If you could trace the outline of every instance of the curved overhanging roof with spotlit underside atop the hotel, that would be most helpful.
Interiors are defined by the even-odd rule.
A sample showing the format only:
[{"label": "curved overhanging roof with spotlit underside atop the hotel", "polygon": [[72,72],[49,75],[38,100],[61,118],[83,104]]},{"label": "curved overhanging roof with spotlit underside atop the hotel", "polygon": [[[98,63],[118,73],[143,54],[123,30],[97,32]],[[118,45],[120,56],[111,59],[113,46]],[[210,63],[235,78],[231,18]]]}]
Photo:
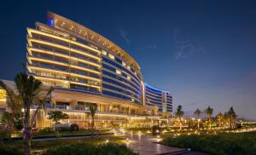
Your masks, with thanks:
[{"label": "curved overhanging roof with spotlit underside atop the hotel", "polygon": [[[90,28],[85,27],[73,20],[69,20],[59,14],[55,14],[55,13],[48,11],[47,15],[48,15],[48,17],[52,18],[53,20],[62,20],[62,21],[65,21],[66,24],[67,23],[71,24],[73,26],[73,29],[71,29],[70,32],[75,32],[77,34],[78,30],[82,31],[82,29],[84,29],[86,34],[88,33],[88,35],[90,34],[91,36],[95,37],[95,39],[91,40],[92,42],[94,42],[93,40],[97,39],[95,42],[102,43],[102,47],[112,50],[114,53],[116,53],[116,55],[125,57],[126,60],[131,61],[131,63],[135,66],[135,68],[137,70],[141,69],[140,66],[137,64],[137,61],[134,60],[131,57],[131,55],[129,55],[124,49],[121,49],[119,47],[119,45],[108,40],[107,37],[103,37],[101,34],[94,32],[93,30],[90,30]],[[73,31],[73,30],[76,30],[76,31]],[[84,36],[85,36],[85,33],[84,33]]]}]

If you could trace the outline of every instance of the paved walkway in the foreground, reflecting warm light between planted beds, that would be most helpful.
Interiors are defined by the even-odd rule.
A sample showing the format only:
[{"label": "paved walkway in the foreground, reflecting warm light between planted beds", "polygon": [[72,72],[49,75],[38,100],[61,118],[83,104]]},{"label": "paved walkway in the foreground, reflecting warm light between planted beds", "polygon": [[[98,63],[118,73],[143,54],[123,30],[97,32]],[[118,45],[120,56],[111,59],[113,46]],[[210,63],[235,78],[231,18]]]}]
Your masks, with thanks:
[{"label": "paved walkway in the foreground, reflecting warm light between planted beds", "polygon": [[149,137],[148,135],[127,133],[125,137],[129,139],[126,145],[140,155],[172,154],[172,152],[174,154],[174,152],[184,151],[182,148],[158,144],[156,142],[160,141],[160,139]]}]

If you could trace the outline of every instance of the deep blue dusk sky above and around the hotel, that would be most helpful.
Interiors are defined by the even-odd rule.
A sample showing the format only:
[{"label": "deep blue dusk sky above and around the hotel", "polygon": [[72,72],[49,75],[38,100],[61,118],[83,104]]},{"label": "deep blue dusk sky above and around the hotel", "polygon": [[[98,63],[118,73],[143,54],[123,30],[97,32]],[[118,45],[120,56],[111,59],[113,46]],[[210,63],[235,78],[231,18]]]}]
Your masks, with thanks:
[{"label": "deep blue dusk sky above and around the hotel", "polygon": [[26,27],[47,11],[79,22],[125,49],[144,81],[171,92],[187,115],[234,106],[256,119],[256,1],[14,1],[1,3],[0,78],[26,62]]}]

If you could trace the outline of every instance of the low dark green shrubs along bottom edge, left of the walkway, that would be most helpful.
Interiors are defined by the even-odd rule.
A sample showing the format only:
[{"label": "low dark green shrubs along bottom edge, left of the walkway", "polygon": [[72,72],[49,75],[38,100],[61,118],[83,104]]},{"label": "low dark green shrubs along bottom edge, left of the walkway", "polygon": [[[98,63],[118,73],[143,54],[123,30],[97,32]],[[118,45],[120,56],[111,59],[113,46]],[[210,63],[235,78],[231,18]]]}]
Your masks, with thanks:
[{"label": "low dark green shrubs along bottom edge, left of the walkway", "polygon": [[90,143],[74,143],[67,146],[60,146],[56,149],[49,149],[44,152],[43,155],[136,155],[126,146],[120,146],[118,144],[103,144],[99,146],[92,145]]}]

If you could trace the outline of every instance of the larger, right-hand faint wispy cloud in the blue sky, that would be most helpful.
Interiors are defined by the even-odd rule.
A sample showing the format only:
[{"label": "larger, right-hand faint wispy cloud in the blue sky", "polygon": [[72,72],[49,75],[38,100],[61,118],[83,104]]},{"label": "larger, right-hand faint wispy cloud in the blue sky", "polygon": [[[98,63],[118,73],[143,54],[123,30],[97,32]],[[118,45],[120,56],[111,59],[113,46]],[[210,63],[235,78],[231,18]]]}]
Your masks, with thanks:
[{"label": "larger, right-hand faint wispy cloud in the blue sky", "polygon": [[180,30],[174,29],[172,38],[174,43],[175,59],[181,60],[188,58],[191,55],[207,53],[207,49],[205,49],[201,43],[194,39],[181,39],[179,37]]}]

